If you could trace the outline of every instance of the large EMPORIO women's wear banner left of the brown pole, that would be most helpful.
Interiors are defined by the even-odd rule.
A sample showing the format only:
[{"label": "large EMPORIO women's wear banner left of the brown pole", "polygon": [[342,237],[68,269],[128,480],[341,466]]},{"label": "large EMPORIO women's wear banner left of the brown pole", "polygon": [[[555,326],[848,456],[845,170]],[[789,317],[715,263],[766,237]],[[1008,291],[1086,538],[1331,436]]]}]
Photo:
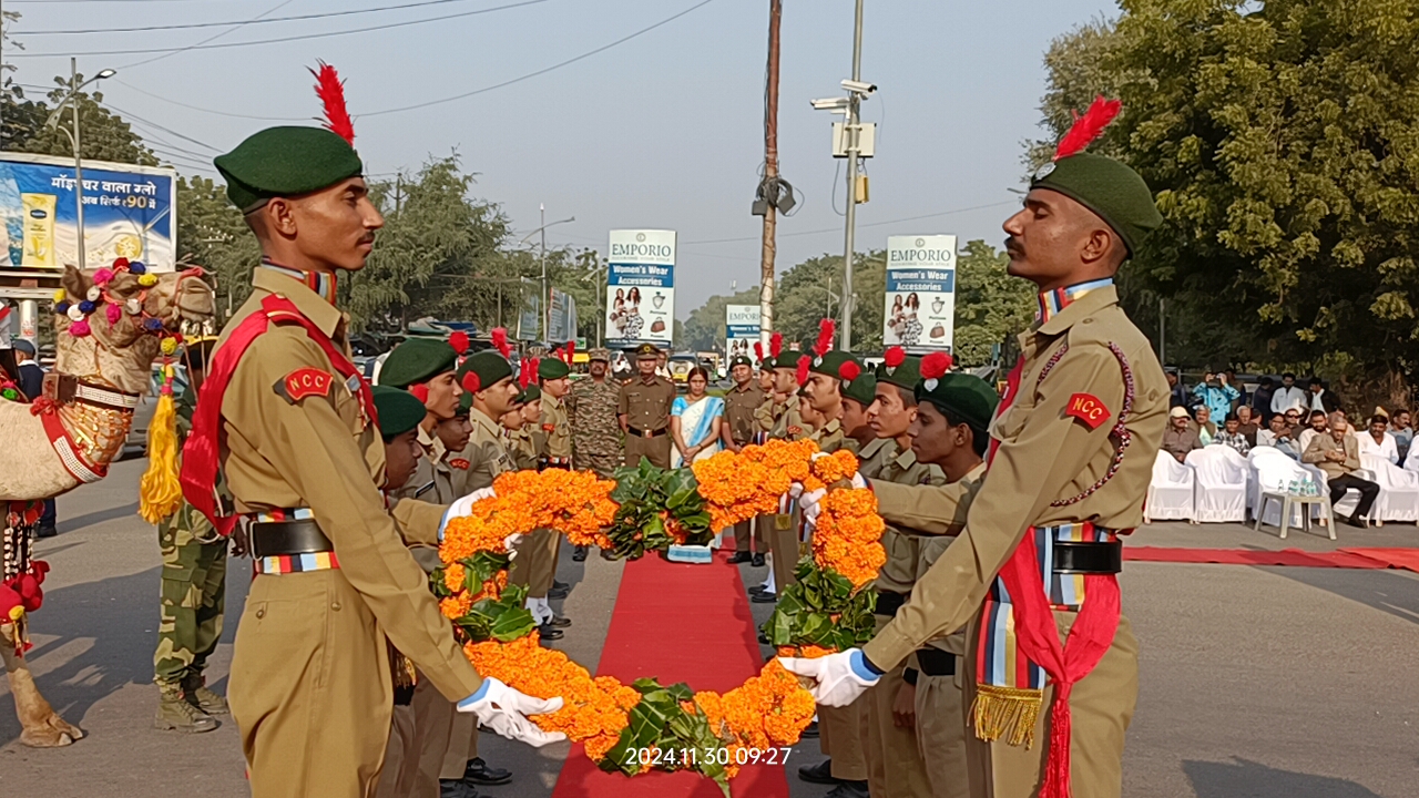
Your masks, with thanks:
[{"label": "large EMPORIO women's wear banner left of the brown pole", "polygon": [[670,346],[675,334],[675,231],[612,230],[606,344]]}]

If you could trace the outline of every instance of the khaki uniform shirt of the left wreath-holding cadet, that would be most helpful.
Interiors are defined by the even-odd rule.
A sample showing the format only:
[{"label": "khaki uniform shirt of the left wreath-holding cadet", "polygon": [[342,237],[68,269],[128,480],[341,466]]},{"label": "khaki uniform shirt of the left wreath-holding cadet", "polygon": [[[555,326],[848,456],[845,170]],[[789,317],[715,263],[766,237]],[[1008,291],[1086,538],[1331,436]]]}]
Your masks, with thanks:
[{"label": "khaki uniform shirt of the left wreath-holding cadet", "polygon": [[[348,319],[301,283],[257,268],[253,291],[219,342],[261,301],[280,294],[349,352]],[[278,388],[297,369],[319,369],[333,378],[325,396],[288,400]],[[339,376],[325,351],[302,327],[271,324],[237,364],[221,406],[221,470],[240,513],[308,507],[335,545],[339,574],[360,594],[379,621],[379,630],[450,700],[461,700],[481,684],[438,612],[429,579],[404,548],[404,540],[437,544],[443,508],[402,501],[385,510],[379,483],[385,443],[365,417],[359,399]],[[298,579],[299,576],[267,576]]]}]

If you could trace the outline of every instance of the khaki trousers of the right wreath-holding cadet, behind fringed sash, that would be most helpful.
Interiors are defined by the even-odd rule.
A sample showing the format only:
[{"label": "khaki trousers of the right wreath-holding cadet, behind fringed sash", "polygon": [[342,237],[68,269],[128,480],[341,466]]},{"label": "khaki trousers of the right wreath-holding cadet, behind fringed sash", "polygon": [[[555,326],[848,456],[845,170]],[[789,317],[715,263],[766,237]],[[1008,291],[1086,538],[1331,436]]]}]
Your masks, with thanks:
[{"label": "khaki trousers of the right wreath-holding cadet, behind fringed sash", "polygon": [[[1069,638],[1077,618],[1073,612],[1056,612],[1060,639]],[[975,657],[971,652],[978,640],[981,616],[971,622],[966,636],[965,706],[975,701]],[[1050,700],[1053,689],[1044,689],[1044,707],[1034,724],[1034,747],[1006,745],[1003,741],[985,743],[975,733],[966,736],[966,757],[971,775],[971,795],[978,798],[1034,798],[1043,782],[1044,760],[1049,754]],[[1128,618],[1118,619],[1114,645],[1104,659],[1083,680],[1074,684],[1070,700],[1070,781],[1080,798],[1120,798],[1124,789],[1124,734],[1138,703],[1138,640]]]}]

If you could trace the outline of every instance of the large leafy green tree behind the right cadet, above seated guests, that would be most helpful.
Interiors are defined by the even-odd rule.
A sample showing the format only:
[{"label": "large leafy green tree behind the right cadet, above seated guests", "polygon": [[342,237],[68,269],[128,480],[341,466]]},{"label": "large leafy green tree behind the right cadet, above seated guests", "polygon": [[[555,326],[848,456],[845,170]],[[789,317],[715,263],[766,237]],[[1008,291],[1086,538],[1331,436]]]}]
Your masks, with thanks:
[{"label": "large leafy green tree behind the right cadet, above seated guests", "polygon": [[1095,149],[1138,169],[1166,220],[1131,267],[1132,301],[1151,291],[1230,327],[1256,362],[1315,362],[1352,405],[1406,405],[1419,362],[1419,7],[1121,10],[1111,30],[1056,43],[1044,111],[1060,133],[1086,95],[1124,101]]}]

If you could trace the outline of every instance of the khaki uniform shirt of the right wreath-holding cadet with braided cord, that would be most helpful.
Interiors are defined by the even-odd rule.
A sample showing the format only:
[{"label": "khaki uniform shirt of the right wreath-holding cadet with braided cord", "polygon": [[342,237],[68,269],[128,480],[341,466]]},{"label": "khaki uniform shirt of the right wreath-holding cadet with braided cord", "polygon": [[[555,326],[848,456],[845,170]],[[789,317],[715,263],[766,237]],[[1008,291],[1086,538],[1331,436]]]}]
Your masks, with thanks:
[{"label": "khaki uniform shirt of the right wreath-holding cadet with braided cord", "polygon": [[[1112,427],[1128,386],[1111,346],[1132,376],[1132,410],[1125,422],[1131,443],[1112,477],[1093,488],[1114,461]],[[1132,530],[1142,523],[1169,390],[1152,345],[1118,307],[1117,290],[1090,291],[1020,335],[1020,352],[1017,396],[990,423],[990,436],[1000,442],[990,479],[968,507],[962,497],[969,490],[961,483],[939,488],[874,484],[881,515],[890,523],[949,534],[965,521],[961,537],[917,582],[911,601],[863,647],[878,667],[891,669],[924,642],[965,626],[1029,527],[1093,521]],[[1053,365],[1040,379],[1047,364]],[[1069,415],[1080,393],[1108,410],[1098,426]]]}]

